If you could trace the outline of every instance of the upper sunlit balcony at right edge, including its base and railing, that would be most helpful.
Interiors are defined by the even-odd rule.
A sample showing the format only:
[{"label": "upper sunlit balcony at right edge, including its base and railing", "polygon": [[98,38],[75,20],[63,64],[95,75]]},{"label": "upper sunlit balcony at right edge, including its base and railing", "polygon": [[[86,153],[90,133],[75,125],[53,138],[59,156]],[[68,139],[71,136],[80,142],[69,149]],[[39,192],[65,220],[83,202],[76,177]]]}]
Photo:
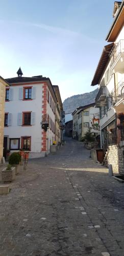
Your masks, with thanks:
[{"label": "upper sunlit balcony at right edge, including its base and railing", "polygon": [[115,44],[109,54],[110,68],[117,71],[122,71],[124,68],[124,40],[119,40]]}]

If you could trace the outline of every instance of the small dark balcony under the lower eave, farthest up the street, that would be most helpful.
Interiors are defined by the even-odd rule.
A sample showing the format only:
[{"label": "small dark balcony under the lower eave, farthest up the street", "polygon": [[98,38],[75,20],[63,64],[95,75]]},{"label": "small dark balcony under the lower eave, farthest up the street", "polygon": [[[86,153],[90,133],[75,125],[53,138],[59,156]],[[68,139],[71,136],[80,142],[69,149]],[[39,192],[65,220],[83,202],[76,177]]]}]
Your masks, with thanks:
[{"label": "small dark balcony under the lower eave, farthest up the street", "polygon": [[106,106],[106,86],[100,87],[95,98],[95,104],[96,106]]}]

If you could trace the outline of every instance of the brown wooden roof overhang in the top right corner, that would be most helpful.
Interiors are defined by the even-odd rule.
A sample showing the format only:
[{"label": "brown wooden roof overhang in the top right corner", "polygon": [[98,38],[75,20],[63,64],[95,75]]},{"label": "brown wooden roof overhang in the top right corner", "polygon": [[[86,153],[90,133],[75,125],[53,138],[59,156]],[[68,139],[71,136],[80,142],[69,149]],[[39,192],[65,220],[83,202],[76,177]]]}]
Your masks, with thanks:
[{"label": "brown wooden roof overhang in the top right corner", "polygon": [[[120,3],[120,2],[118,2]],[[120,29],[122,28],[124,23],[124,1],[119,5],[118,12],[114,18],[112,26],[107,34],[106,40],[108,42],[114,42]]]}]

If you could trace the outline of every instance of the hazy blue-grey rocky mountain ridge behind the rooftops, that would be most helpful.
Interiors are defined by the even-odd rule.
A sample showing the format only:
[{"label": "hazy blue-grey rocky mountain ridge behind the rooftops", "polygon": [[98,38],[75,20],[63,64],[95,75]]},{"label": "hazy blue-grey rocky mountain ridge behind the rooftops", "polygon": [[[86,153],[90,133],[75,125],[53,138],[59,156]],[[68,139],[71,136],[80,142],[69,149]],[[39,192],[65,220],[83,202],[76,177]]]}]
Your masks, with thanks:
[{"label": "hazy blue-grey rocky mountain ridge behind the rooftops", "polygon": [[65,113],[72,113],[78,108],[78,106],[84,106],[95,102],[95,97],[98,93],[98,88],[89,93],[83,93],[78,95],[73,95],[63,102],[63,110]]}]

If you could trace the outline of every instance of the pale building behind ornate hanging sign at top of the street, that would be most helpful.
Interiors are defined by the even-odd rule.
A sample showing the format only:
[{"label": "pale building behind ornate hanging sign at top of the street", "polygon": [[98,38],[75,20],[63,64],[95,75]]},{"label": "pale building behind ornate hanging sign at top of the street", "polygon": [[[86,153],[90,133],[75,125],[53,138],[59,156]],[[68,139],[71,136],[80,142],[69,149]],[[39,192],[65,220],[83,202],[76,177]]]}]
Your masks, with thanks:
[{"label": "pale building behind ornate hanging sign at top of the street", "polygon": [[100,110],[95,108],[95,103],[79,106],[79,108],[72,113],[73,138],[82,140],[89,129],[95,137],[100,134],[98,131],[99,115]]}]

